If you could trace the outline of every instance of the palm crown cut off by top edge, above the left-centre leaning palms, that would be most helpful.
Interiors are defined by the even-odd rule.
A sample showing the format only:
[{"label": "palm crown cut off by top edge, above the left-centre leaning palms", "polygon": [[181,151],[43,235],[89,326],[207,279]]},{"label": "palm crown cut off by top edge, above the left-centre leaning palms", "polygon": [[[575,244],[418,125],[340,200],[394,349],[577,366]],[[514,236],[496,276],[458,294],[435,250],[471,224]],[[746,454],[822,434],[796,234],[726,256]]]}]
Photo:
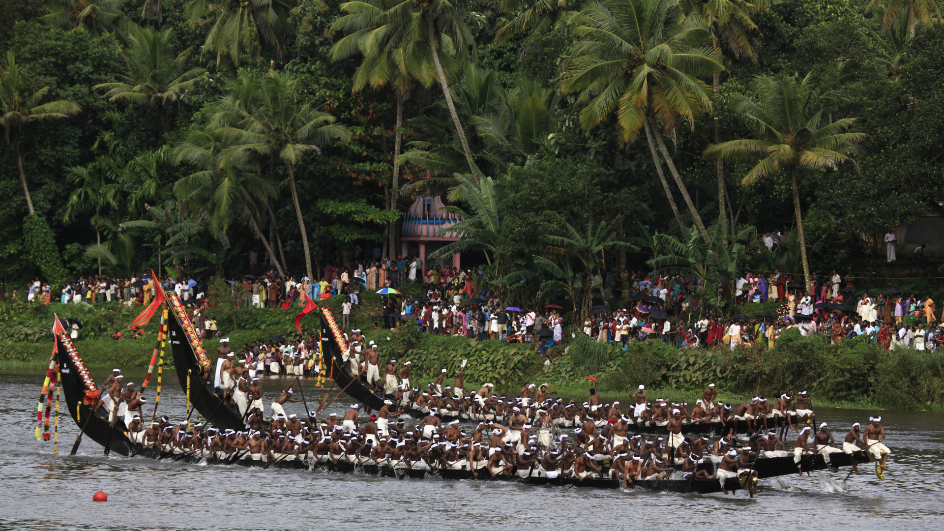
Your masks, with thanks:
[{"label": "palm crown cut off by top edge, above the left-centre leaning palms", "polygon": [[184,15],[190,26],[197,26],[208,11],[215,12],[216,20],[207,33],[201,55],[215,53],[217,65],[228,57],[239,66],[240,54],[258,58],[262,47],[277,54],[282,52],[289,31],[289,9],[279,0],[243,0],[222,5],[211,0],[193,0],[184,9]]}]

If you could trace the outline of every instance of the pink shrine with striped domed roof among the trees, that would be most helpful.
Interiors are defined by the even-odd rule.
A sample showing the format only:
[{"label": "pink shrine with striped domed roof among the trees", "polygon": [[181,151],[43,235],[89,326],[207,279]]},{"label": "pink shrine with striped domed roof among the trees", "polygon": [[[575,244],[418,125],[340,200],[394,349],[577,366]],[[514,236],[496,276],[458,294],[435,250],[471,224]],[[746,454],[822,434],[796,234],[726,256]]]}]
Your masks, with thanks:
[{"label": "pink shrine with striped domed roof among the trees", "polygon": [[[432,252],[437,248],[447,245],[449,242],[459,241],[459,234],[455,232],[443,232],[442,229],[455,225],[464,219],[461,214],[452,214],[441,210],[445,204],[440,196],[434,197],[416,197],[413,204],[403,216],[403,227],[401,229],[400,247],[403,256],[408,254],[418,254],[423,264],[423,272],[428,269],[426,262],[427,252]],[[418,251],[413,251],[410,242],[416,242]],[[430,246],[431,248],[427,248]],[[435,264],[448,267],[460,268],[461,253],[453,253],[452,264],[448,264],[448,259],[439,260]]]}]

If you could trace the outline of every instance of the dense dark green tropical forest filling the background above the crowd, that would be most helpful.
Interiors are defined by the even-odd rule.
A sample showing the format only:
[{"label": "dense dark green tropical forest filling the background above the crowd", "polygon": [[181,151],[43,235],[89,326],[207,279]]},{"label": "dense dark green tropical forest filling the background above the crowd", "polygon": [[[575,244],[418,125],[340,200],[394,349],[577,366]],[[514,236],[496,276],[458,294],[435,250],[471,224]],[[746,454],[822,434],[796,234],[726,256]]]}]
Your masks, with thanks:
[{"label": "dense dark green tropical forest filling the background above the crowd", "polygon": [[[607,218],[614,228],[622,224],[624,239],[636,235],[636,222],[650,235],[675,231],[682,238],[679,222],[695,223],[706,240],[713,239],[708,227],[715,220],[731,225],[731,232],[741,226],[789,228],[797,216],[785,174],[742,184],[759,159],[732,159],[722,166],[719,181],[715,161],[702,157],[717,142],[752,138],[750,117],[739,109],[745,98],[763,95],[753,82],[758,75],[808,76],[818,94],[830,94],[817,104],[819,124],[842,124],[862,141],[856,150],[844,151],[857,164],[821,163],[798,170],[796,196],[806,248],[824,238],[831,243],[810,253],[811,269],[838,266],[841,257],[870,250],[868,238],[934,210],[944,193],[944,162],[937,156],[944,136],[944,27],[936,9],[927,17],[921,11],[912,28],[906,9],[885,12],[865,0],[791,0],[768,7],[732,3],[725,8],[732,11],[714,15],[714,8],[697,2],[551,6],[470,0],[454,10],[430,4],[439,41],[430,47],[427,4],[396,5],[415,9],[418,26],[397,19],[394,11],[380,16],[368,9],[355,16],[336,0],[249,2],[223,9],[182,0],[148,3],[146,9],[121,2],[81,5],[92,10],[76,15],[70,3],[3,4],[8,15],[0,29],[4,51],[13,52],[34,86],[49,87],[42,101],[73,102],[81,109],[14,131],[35,210],[52,231],[43,231],[42,252],[33,246],[30,238],[37,236],[30,235],[25,222],[15,143],[0,143],[0,191],[8,197],[0,208],[0,278],[8,283],[96,272],[97,262],[82,255],[99,236],[106,249],[130,249],[121,259],[125,266],[112,272],[163,263],[196,275],[239,274],[251,248],[272,248],[284,262],[279,266],[299,276],[308,260],[315,269],[356,246],[382,245],[385,255],[396,255],[396,233],[390,232],[396,214],[377,213],[402,211],[413,194],[454,185],[453,172],[468,170],[464,143],[484,175],[510,177],[508,222],[497,234],[503,275],[533,266],[546,236],[561,234],[565,223],[579,227],[591,218]],[[381,10],[394,5],[376,3]],[[619,87],[641,71],[587,70],[595,61],[618,56],[616,41],[601,39],[599,31],[610,27],[606,13],[624,11],[661,25],[660,38],[677,35],[664,49],[643,36],[639,42],[662,49],[658,53],[625,52],[631,63],[638,56],[642,62],[633,64],[651,67],[649,99],[637,98],[634,107],[616,105],[616,93],[603,89],[622,91]],[[345,15],[355,18],[338,24]],[[387,20],[383,16],[400,21],[392,24],[402,23],[403,35],[415,41],[384,34],[373,48],[361,43],[341,55],[332,52],[358,28],[366,31]],[[719,22],[711,22],[711,16]],[[702,24],[699,17],[708,22]],[[237,19],[249,26],[229,24]],[[150,29],[142,33],[139,26]],[[631,33],[614,39],[634,43],[639,36]],[[396,55],[403,43],[413,43],[409,59]],[[674,52],[659,56],[668,49]],[[443,97],[434,50],[451,84],[454,112]],[[400,77],[375,68],[370,82],[357,81],[364,54],[375,59],[388,54],[382,57],[393,58],[389,64],[399,65]],[[715,92],[716,60],[725,70]],[[653,74],[664,68],[674,74]],[[285,158],[274,151],[249,147],[254,155],[244,161],[249,167],[243,171],[259,174],[271,190],[255,206],[236,205],[223,213],[228,222],[220,226],[218,208],[186,208],[194,188],[178,181],[200,168],[171,157],[170,151],[212,122],[218,101],[231,94],[230,81],[259,81],[270,70],[294,77],[298,105],[327,113],[351,136],[325,138],[320,149],[299,150],[291,166],[279,162]],[[404,81],[408,77],[413,81]],[[362,88],[352,94],[356,83]],[[679,86],[687,88],[672,93]],[[404,117],[399,129],[396,94]],[[651,135],[643,131],[641,118],[649,116],[649,105],[655,110]],[[257,133],[264,114],[259,109],[247,109],[243,117],[252,115]],[[456,120],[461,130],[453,126]],[[392,191],[397,132],[403,135],[403,165]],[[258,138],[230,135],[224,147],[258,144]],[[92,171],[96,182],[116,186],[125,200],[67,213],[67,198],[82,185],[69,176],[81,168]],[[435,179],[423,179],[428,171]],[[155,205],[167,213],[161,226],[147,211]],[[191,229],[184,231],[184,225]],[[125,243],[119,241],[122,233]],[[718,234],[728,241],[723,231]],[[169,246],[168,240],[177,245]],[[652,250],[628,249],[627,266],[646,268]],[[56,266],[57,253],[64,270]],[[736,263],[752,264],[751,254],[749,248]],[[467,255],[478,260],[474,252]]]}]

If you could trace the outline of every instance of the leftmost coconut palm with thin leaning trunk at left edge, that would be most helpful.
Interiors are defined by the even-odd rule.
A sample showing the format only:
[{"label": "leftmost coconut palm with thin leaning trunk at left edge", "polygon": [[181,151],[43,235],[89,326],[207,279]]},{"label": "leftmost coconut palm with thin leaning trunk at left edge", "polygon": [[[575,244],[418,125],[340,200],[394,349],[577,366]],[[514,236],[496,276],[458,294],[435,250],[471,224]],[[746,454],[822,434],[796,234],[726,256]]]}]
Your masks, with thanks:
[{"label": "leftmost coconut palm with thin leaning trunk at left edge", "polygon": [[26,175],[23,171],[23,155],[20,152],[20,135],[26,126],[42,121],[65,118],[77,114],[82,108],[74,101],[58,100],[42,103],[50,88],[44,85],[48,79],[36,79],[16,63],[12,51],[7,52],[5,64],[0,65],[0,125],[4,128],[7,144],[13,145],[16,153],[16,169],[26,197],[29,214],[36,214],[33,198],[29,196]]}]

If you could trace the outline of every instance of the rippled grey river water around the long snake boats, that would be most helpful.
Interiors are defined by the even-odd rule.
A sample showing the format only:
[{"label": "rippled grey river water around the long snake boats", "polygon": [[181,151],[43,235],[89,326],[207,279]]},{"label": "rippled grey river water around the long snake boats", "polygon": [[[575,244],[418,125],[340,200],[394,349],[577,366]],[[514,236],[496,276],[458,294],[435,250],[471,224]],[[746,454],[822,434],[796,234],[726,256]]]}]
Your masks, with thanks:
[{"label": "rippled grey river water around the long snake boats", "polygon": [[[126,380],[143,381],[143,373],[127,372]],[[93,369],[98,382],[108,373]],[[284,385],[263,382],[264,403]],[[0,403],[6,449],[0,454],[0,529],[944,529],[941,414],[882,412],[892,452],[885,481],[870,465],[845,483],[848,469],[783,476],[763,480],[750,500],[743,490],[701,496],[182,465],[105,457],[91,439],[70,457],[78,429],[64,405],[59,454],[34,435],[42,374],[0,375],[0,386],[8,396]],[[311,379],[303,388],[309,405],[324,396]],[[153,391],[146,394],[153,401]],[[182,420],[184,402],[176,374],[167,371],[159,415]],[[325,414],[341,416],[349,402],[343,396]],[[304,406],[287,403],[286,410],[302,416]],[[852,422],[865,424],[873,414],[818,409],[817,420],[829,422],[841,440]],[[92,501],[99,488],[109,494],[107,503]]]}]

